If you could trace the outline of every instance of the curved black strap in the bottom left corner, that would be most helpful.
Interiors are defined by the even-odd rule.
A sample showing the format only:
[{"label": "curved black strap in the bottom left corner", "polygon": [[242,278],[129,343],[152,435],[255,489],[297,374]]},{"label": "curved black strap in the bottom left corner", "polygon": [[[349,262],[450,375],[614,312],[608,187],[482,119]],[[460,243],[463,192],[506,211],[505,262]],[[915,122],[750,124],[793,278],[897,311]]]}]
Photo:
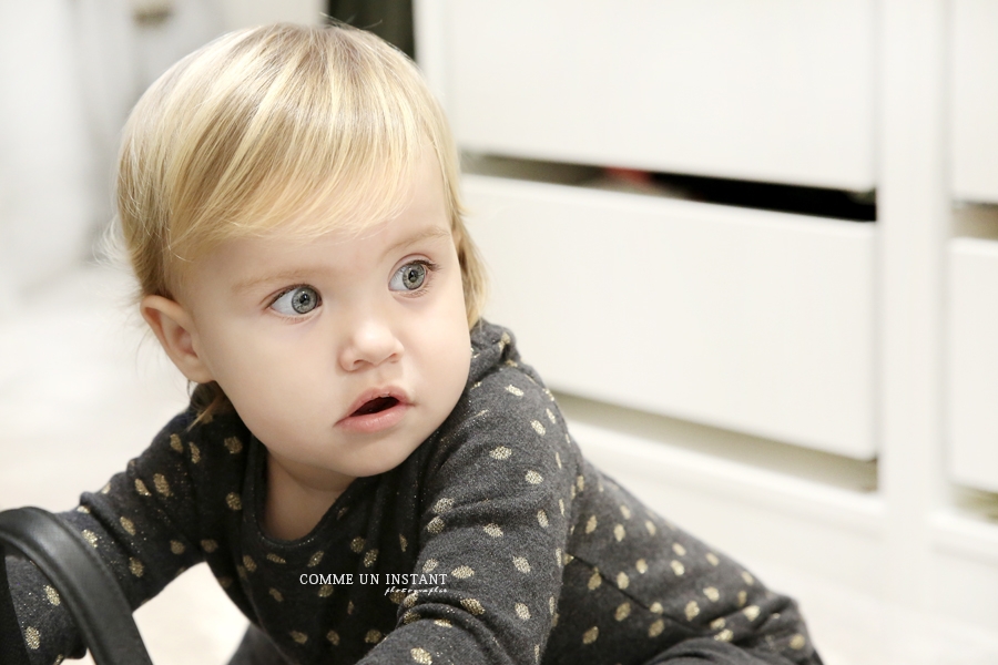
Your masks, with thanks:
[{"label": "curved black strap in the bottom left corner", "polygon": [[0,662],[29,665],[4,549],[21,553],[49,577],[98,665],[152,665],[114,574],[83,536],[40,508],[0,512]]}]

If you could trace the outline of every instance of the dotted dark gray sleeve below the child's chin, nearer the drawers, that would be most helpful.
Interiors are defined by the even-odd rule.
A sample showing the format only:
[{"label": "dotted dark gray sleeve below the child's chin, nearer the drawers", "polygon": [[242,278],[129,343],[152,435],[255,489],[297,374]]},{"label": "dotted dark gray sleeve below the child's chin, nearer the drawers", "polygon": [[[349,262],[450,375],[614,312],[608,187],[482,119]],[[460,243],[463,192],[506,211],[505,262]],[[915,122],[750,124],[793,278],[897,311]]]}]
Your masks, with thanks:
[{"label": "dotted dark gray sleeve below the child's chin, nearer the drawers", "polygon": [[537,663],[560,595],[574,470],[548,393],[503,368],[441,430],[422,493],[416,573],[446,584],[403,602],[361,661]]}]

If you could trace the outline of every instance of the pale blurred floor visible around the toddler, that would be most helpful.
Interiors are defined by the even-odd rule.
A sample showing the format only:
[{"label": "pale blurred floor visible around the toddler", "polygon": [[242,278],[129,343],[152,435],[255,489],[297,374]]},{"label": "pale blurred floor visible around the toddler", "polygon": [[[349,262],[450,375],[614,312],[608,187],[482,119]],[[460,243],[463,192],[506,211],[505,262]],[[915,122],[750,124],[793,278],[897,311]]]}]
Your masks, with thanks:
[{"label": "pale blurred floor visible around the toddler", "polygon": [[[121,273],[88,265],[0,311],[0,509],[74,507],[185,406],[179,372],[125,314],[129,288]],[[752,567],[798,598],[827,665],[998,663],[998,635]],[[246,625],[204,566],[135,616],[157,665],[224,664]]]}]

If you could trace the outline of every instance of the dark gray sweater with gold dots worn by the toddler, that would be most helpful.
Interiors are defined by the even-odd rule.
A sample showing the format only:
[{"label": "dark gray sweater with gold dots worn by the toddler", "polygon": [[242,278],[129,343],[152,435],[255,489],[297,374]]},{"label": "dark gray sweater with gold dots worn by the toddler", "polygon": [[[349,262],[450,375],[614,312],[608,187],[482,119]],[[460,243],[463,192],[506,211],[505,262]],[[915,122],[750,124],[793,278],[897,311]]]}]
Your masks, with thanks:
[{"label": "dark gray sweater with gold dots worn by the toddler", "polygon": [[[582,458],[508,330],[471,339],[444,424],[305,538],[262,532],[266,450],[240,418],[193,409],[62,516],[133,607],[206,561],[293,663],[821,662],[790,598]],[[32,663],[80,657],[55,591],[9,564]]]}]

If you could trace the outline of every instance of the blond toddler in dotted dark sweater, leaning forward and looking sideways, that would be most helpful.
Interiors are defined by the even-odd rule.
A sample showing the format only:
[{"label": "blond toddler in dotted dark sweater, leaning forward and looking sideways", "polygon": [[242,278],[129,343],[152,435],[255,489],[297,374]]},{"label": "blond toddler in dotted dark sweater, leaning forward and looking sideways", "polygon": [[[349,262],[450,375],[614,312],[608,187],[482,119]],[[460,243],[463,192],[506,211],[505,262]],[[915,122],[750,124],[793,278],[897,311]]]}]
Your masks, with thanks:
[{"label": "blond toddler in dotted dark sweater, leaning forward and looking sideways", "polygon": [[[248,663],[821,663],[795,604],[580,454],[480,316],[458,156],[415,65],[347,27],[235,32],[136,105],[140,309],[195,385],[71,523],[133,607],[206,562]],[[84,646],[11,560],[32,663]]]}]

